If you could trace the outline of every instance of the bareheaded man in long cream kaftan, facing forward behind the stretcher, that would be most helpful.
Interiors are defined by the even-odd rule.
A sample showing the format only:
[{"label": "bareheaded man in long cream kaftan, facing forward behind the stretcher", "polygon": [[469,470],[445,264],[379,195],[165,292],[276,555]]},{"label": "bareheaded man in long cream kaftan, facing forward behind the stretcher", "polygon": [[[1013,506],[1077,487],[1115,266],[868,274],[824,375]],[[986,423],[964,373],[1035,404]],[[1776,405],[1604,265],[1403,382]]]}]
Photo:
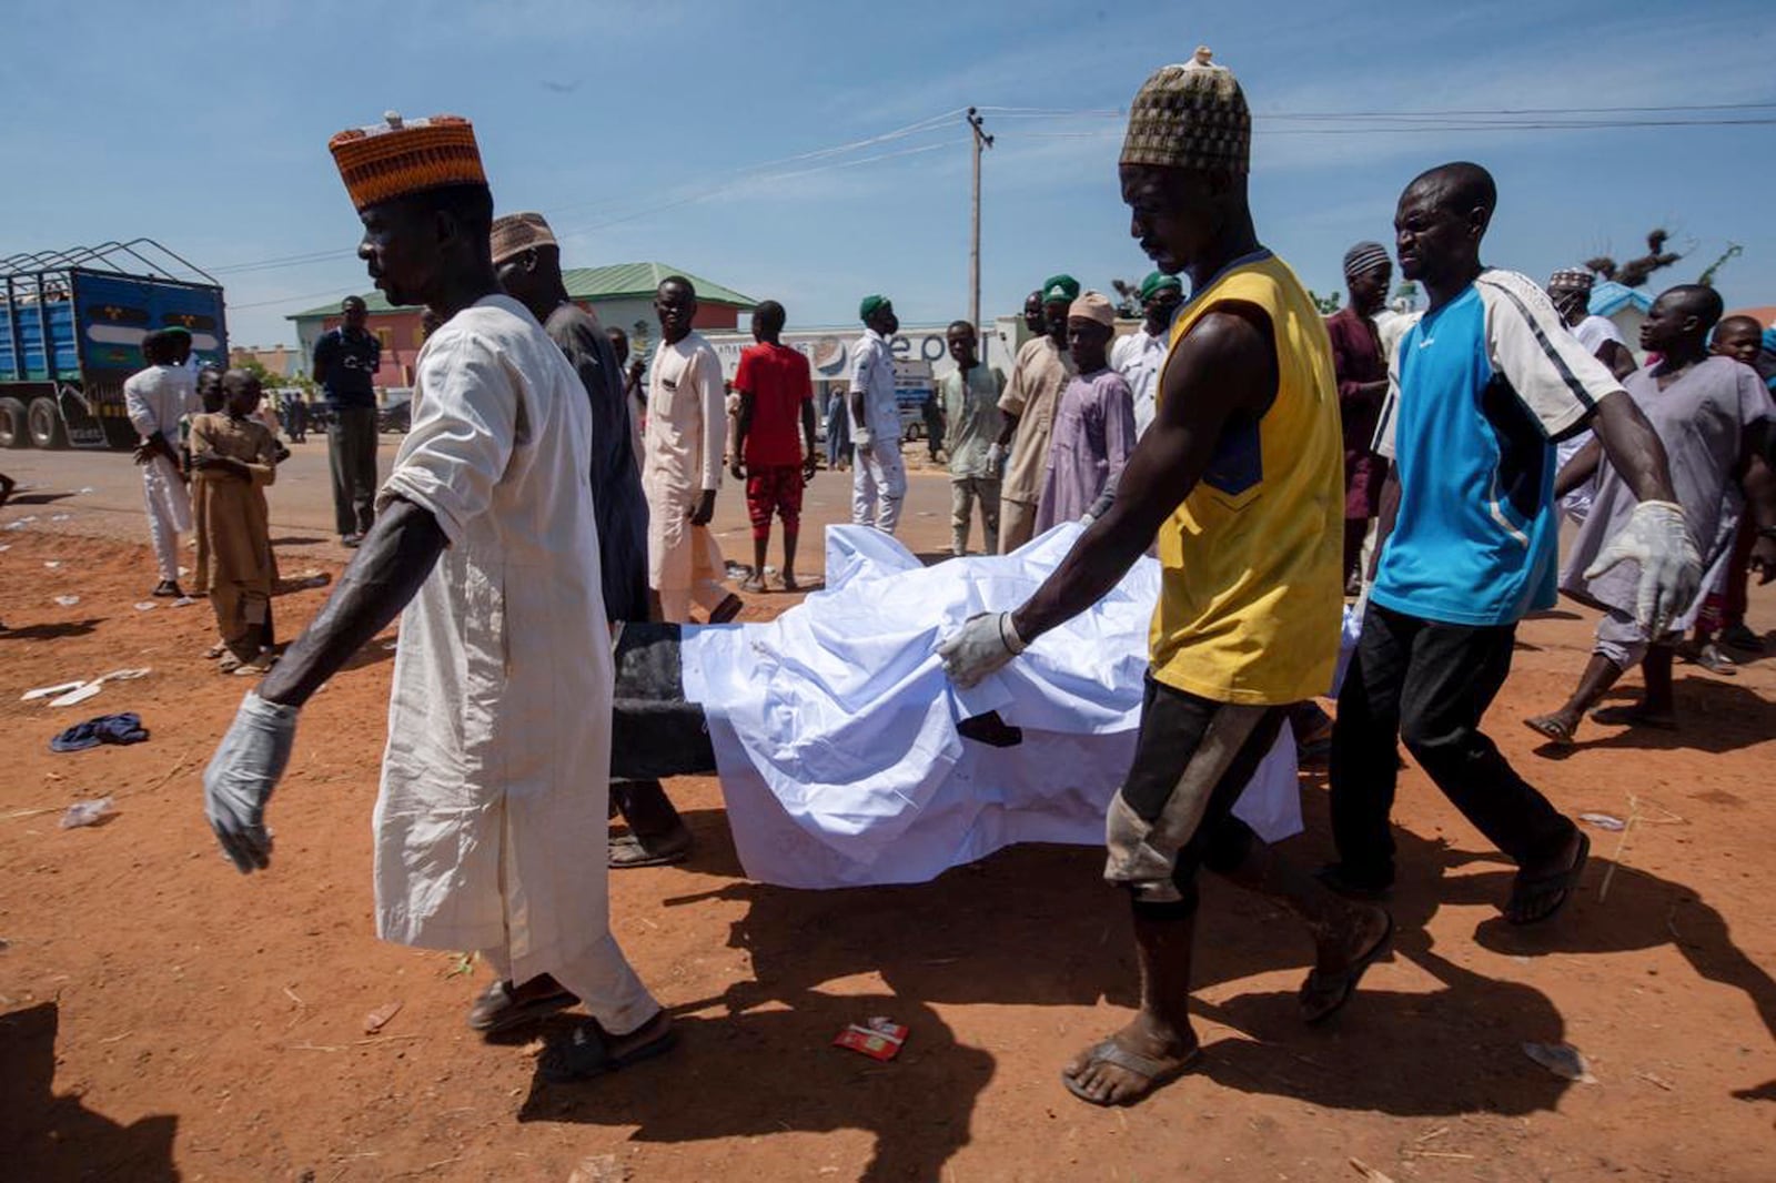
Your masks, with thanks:
[{"label": "bareheaded man in long cream kaftan, facing forward behind the stretcher", "polygon": [[668,275],[654,293],[661,346],[648,371],[648,426],[643,437],[641,488],[648,497],[648,586],[661,597],[671,623],[691,620],[691,604],[709,623],[726,623],[741,599],[721,588],[721,547],[709,533],[721,488],[721,453],[728,419],[723,407],[721,359],[702,334],[696,288]]}]

